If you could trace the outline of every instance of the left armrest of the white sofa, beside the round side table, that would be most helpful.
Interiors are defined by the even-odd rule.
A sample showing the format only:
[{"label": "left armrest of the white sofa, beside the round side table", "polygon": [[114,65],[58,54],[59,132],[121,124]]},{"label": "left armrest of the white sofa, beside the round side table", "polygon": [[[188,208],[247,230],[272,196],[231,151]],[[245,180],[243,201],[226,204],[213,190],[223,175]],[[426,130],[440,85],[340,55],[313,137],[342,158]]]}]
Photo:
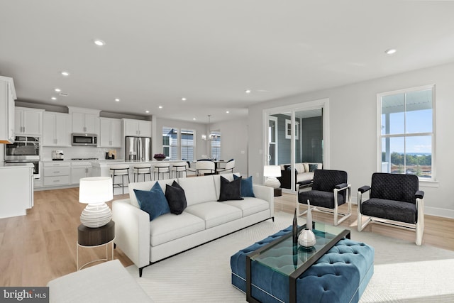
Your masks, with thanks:
[{"label": "left armrest of the white sofa, beside the round side table", "polygon": [[138,268],[150,264],[150,216],[129,204],[129,199],[112,202],[115,244]]}]

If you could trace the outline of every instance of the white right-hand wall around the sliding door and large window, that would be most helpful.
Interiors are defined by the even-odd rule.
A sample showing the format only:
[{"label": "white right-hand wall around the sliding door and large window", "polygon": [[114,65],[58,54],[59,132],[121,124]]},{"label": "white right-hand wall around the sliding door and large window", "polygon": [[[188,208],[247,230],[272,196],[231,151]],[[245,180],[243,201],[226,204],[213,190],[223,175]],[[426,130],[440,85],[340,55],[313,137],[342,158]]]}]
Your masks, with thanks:
[{"label": "white right-hand wall around the sliding door and large window", "polygon": [[[345,87],[325,89],[310,94],[250,106],[248,118],[249,172],[262,177],[262,110],[316,99],[329,99],[330,121],[328,150],[330,166],[348,172],[353,200],[356,190],[370,184],[377,171],[377,94],[397,89],[436,84],[436,182],[421,182],[426,214],[454,218],[454,64],[384,77]],[[262,153],[261,153],[262,152]],[[258,180],[256,178],[255,180]]]}]

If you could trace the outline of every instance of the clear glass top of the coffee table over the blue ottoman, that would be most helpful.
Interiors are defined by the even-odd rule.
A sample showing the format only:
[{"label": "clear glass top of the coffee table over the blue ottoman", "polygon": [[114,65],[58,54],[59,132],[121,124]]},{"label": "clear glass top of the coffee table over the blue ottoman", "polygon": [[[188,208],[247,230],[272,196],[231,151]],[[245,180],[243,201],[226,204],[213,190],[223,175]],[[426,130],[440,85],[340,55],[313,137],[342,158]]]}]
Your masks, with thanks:
[{"label": "clear glass top of the coffee table over the blue ottoman", "polygon": [[[305,263],[314,263],[316,259],[312,259],[317,252],[326,246],[330,246],[330,248],[334,246],[339,241],[339,238],[336,240],[336,237],[346,232],[344,228],[338,228],[321,222],[314,221],[312,226],[312,231],[314,231],[316,236],[316,244],[311,248],[304,248],[299,246],[298,243],[294,245],[292,231],[290,231],[279,238],[278,241],[268,245],[264,250],[251,255],[251,260],[280,272],[283,275],[291,275]],[[304,228],[306,228],[306,225],[299,226],[299,231]]]}]

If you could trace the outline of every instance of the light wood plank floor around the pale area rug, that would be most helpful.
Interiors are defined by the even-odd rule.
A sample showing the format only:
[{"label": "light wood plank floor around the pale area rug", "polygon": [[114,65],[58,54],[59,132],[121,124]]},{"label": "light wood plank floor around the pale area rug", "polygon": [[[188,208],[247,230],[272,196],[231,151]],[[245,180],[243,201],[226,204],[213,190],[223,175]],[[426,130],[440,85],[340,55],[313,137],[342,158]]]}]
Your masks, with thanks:
[{"label": "light wood plank floor around the pale area rug", "polygon": [[[0,286],[45,286],[48,281],[74,272],[79,216],[85,204],[78,202],[79,189],[35,192],[35,206],[27,216],[0,219]],[[128,197],[115,196],[115,199]],[[275,197],[275,211],[294,212],[295,196]],[[111,202],[109,202],[111,206]],[[332,216],[313,212],[314,220],[332,222]],[[342,225],[355,228],[356,208]],[[414,233],[372,224],[367,231],[414,241]],[[454,250],[454,220],[426,216],[423,245]],[[79,264],[103,258],[105,248],[81,248]],[[120,249],[114,258],[124,266],[131,260]],[[96,264],[96,263],[94,263]]]}]

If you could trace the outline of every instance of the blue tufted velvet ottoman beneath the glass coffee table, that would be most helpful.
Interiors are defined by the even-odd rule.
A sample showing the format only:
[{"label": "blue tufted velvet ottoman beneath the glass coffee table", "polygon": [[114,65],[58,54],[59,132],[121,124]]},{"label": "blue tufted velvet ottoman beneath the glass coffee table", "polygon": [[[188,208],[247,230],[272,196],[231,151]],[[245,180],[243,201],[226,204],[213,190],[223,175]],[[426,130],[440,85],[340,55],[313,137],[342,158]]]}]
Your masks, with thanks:
[{"label": "blue tufted velvet ottoman beneath the glass coffee table", "polygon": [[[292,226],[231,256],[232,284],[246,290],[246,255],[292,232]],[[276,255],[276,262],[286,255]],[[374,272],[374,248],[349,239],[338,241],[297,278],[297,302],[358,302]],[[288,302],[289,277],[252,263],[252,296],[260,302]]]}]

